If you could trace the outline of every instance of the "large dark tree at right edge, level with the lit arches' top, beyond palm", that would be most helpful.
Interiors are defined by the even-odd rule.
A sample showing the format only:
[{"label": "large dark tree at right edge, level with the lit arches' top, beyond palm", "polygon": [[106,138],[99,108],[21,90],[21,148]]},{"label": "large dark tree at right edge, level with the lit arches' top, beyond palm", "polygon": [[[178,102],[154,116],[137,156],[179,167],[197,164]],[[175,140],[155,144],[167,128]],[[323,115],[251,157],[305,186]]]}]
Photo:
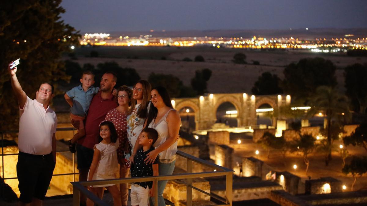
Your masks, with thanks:
[{"label": "large dark tree at right edge, level with the lit arches' top, beyond palm", "polygon": [[354,64],[345,67],[345,88],[346,95],[356,102],[356,111],[366,113],[367,107],[367,63],[364,65]]}]

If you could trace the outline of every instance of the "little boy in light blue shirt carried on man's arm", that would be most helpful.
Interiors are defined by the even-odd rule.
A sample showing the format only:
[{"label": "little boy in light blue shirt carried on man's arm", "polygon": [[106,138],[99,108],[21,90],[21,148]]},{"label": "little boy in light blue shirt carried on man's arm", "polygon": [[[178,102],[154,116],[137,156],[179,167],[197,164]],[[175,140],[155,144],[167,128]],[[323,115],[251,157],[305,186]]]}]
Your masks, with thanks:
[{"label": "little boy in light blue shirt carried on man's arm", "polygon": [[84,119],[87,116],[89,106],[93,96],[98,93],[99,87],[93,87],[94,74],[90,71],[85,71],[80,78],[81,85],[67,91],[64,95],[66,102],[70,104],[70,119],[71,124],[78,132],[69,140],[69,150],[72,153],[76,152],[75,143],[78,139],[86,135],[84,129]]}]

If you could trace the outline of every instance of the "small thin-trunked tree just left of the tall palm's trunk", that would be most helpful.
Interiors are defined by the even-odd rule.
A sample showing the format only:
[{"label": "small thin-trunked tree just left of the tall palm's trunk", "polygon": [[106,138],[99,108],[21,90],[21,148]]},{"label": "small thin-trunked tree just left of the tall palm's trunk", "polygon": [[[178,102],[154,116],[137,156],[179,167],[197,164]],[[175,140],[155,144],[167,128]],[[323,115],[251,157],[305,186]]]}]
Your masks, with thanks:
[{"label": "small thin-trunked tree just left of the tall palm's trunk", "polygon": [[292,151],[301,151],[303,153],[303,162],[306,165],[306,175],[307,175],[308,168],[310,166],[310,161],[307,158],[307,155],[309,155],[315,149],[315,137],[309,134],[299,136],[300,136],[299,140],[295,140],[292,143]]}]

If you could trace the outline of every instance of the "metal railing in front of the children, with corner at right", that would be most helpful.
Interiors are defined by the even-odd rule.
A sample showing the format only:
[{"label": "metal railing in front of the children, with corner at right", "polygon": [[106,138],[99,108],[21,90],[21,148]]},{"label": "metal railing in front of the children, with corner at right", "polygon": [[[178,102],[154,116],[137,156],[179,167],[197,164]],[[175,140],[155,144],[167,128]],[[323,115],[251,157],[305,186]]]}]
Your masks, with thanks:
[{"label": "metal railing in front of the children, with corner at right", "polygon": [[[214,163],[204,161],[203,159],[194,157],[192,155],[186,154],[182,151],[177,151],[177,155],[186,158],[186,173],[183,174],[172,174],[172,175],[164,175],[164,176],[152,176],[152,177],[133,177],[133,178],[124,178],[124,179],[111,179],[111,180],[93,180],[93,181],[80,181],[80,182],[72,182],[73,184],[73,205],[79,206],[79,198],[80,192],[87,196],[91,201],[93,201],[96,205],[99,206],[107,206],[106,202],[103,202],[97,196],[95,196],[91,191],[87,190],[87,186],[92,185],[103,185],[103,184],[120,184],[120,183],[134,183],[134,182],[144,182],[144,181],[153,181],[156,185],[160,180],[181,180],[186,179],[186,205],[192,206],[192,189],[202,192],[206,195],[211,196],[223,204],[221,205],[229,205],[232,206],[232,175],[233,170],[215,165]],[[193,162],[197,162],[201,165],[210,167],[217,171],[214,172],[197,172],[192,173]],[[215,176],[226,176],[226,195],[225,198],[220,198],[218,195],[210,194],[206,191],[200,190],[192,185],[193,178],[199,177],[215,177]],[[154,204],[158,205],[157,196],[158,191],[157,187],[154,188]]]}]

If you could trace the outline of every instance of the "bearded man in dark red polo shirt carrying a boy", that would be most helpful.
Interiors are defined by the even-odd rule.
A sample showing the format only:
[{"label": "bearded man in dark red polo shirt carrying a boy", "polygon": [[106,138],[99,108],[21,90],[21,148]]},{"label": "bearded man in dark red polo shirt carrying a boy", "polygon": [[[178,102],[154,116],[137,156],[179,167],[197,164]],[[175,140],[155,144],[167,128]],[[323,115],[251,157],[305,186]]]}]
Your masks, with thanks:
[{"label": "bearded man in dark red polo shirt carrying a boy", "polygon": [[[101,123],[108,111],[118,106],[116,97],[112,95],[117,77],[113,72],[106,72],[101,79],[101,91],[94,95],[86,118],[86,136],[78,140],[76,151],[79,170],[79,181],[87,181],[88,171],[93,159],[93,147],[97,144],[99,135],[99,123]],[[81,204],[86,199],[80,194]]]}]

